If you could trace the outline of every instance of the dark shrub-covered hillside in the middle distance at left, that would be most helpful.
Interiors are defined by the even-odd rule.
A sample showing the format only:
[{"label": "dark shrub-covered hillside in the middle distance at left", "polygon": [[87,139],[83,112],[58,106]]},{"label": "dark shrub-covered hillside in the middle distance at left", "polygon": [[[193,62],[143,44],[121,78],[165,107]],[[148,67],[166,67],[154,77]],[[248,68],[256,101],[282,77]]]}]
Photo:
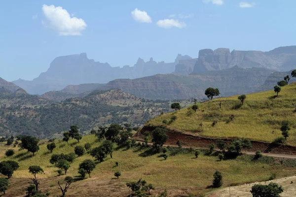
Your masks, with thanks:
[{"label": "dark shrub-covered hillside in the middle distance at left", "polygon": [[23,133],[43,138],[74,124],[81,131],[111,123],[139,126],[171,110],[169,101],[140,99],[121,90],[94,91],[60,102],[16,93],[0,94],[0,135]]}]

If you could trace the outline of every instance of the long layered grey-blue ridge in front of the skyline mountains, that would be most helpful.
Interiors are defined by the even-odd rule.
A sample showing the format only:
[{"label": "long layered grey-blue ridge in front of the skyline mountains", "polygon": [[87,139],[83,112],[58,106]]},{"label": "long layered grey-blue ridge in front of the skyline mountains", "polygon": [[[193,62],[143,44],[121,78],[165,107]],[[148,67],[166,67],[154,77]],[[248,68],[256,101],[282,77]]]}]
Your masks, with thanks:
[{"label": "long layered grey-blue ridge in front of the skyline mountains", "polygon": [[[243,69],[234,66],[225,70],[205,71],[195,75],[158,74],[138,79],[116,79],[105,85],[100,84],[97,90],[121,89],[139,98],[152,100],[205,99],[204,91],[208,87],[219,88],[223,97],[256,92],[273,72],[267,68]],[[84,84],[84,87],[86,86],[88,84]],[[95,86],[91,85],[91,87]],[[74,89],[79,89],[79,86],[75,86]],[[64,89],[49,92],[51,93],[50,97],[49,93],[45,93],[41,97],[59,100],[60,94],[64,95],[63,99],[67,99],[82,97],[87,93],[82,93],[83,89],[79,90],[76,95],[71,95],[69,91]]]}]

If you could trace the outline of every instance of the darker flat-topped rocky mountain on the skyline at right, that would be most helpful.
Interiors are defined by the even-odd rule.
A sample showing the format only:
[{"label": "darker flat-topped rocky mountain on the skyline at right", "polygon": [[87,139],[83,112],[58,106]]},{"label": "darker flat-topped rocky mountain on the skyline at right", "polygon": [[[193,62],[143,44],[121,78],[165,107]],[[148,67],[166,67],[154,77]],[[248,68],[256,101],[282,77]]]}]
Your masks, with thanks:
[{"label": "darker flat-topped rocky mountain on the skyline at right", "polygon": [[[184,61],[190,62],[190,61]],[[206,70],[222,70],[232,66],[242,68],[264,67],[276,71],[287,71],[295,68],[296,46],[278,47],[268,52],[237,51],[227,48],[216,50],[203,49],[199,51],[193,73]],[[176,66],[177,68],[177,66]]]}]

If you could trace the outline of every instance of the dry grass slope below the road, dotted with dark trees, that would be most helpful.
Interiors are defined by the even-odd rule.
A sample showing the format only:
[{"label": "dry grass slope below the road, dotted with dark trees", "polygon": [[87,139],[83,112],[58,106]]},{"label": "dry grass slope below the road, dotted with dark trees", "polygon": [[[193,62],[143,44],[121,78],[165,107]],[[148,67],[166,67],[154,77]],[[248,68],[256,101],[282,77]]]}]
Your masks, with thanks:
[{"label": "dry grass slope below the road, dotted with dark trees", "polygon": [[[79,145],[84,145],[86,142],[92,143],[92,148],[100,144],[100,142],[96,141],[94,135],[83,136]],[[67,145],[66,142],[56,141],[57,148],[52,154],[74,152],[75,140],[70,140],[69,143],[70,145]],[[27,154],[26,150],[22,150],[16,151],[16,154],[9,158],[3,156],[0,158],[1,161],[9,159],[17,161],[20,164],[20,168],[14,172],[10,180],[11,187],[7,194],[13,196],[18,193],[24,193],[23,187],[29,185],[27,184],[28,178],[32,176],[28,173],[28,167],[30,165],[40,165],[44,169],[44,174],[38,175],[39,178],[42,178],[41,189],[43,191],[49,190],[49,192],[54,195],[59,194],[60,191],[57,189],[57,181],[61,180],[65,175],[57,177],[58,168],[49,163],[51,153],[47,151],[46,144],[47,142],[40,146],[40,150],[35,157],[32,157],[31,153]],[[1,152],[11,147],[12,146],[5,146],[4,143],[0,144]],[[105,196],[106,194],[110,195],[118,191],[127,195],[128,189],[125,187],[125,183],[140,178],[142,170],[143,178],[148,183],[152,183],[158,188],[157,193],[163,191],[163,188],[168,188],[169,191],[177,190],[177,180],[178,176],[180,176],[181,188],[189,188],[189,191],[191,190],[193,193],[199,194],[206,192],[206,187],[211,185],[212,174],[216,169],[222,171],[225,185],[227,185],[229,181],[233,184],[239,184],[266,180],[271,172],[276,172],[278,176],[288,176],[296,173],[295,168],[284,168],[282,165],[268,165],[250,161],[246,162],[244,158],[218,162],[217,157],[201,155],[198,159],[194,159],[194,154],[185,154],[169,156],[169,158],[164,161],[162,158],[158,157],[160,154],[140,157],[139,154],[144,151],[145,150],[139,150],[137,148],[115,151],[113,153],[113,159],[108,157],[105,162],[97,164],[95,170],[91,173],[91,179],[87,178],[86,180],[75,182],[74,186],[69,189],[69,195],[98,195],[100,192],[104,192],[100,194],[101,196]],[[76,158],[74,163],[71,164],[67,175],[77,176],[78,165],[84,159],[93,158],[88,154]],[[119,170],[119,167],[114,167],[116,161],[121,163],[122,169],[122,176],[119,180],[112,179],[114,178],[114,172]],[[94,186],[93,184],[95,184],[95,188],[92,188]],[[114,186],[114,184],[117,185]],[[106,185],[106,188],[103,189],[103,185]],[[114,189],[113,187],[118,188]],[[113,188],[114,191],[111,188]],[[154,194],[157,193],[154,192]],[[120,194],[118,196],[120,196]]]}]

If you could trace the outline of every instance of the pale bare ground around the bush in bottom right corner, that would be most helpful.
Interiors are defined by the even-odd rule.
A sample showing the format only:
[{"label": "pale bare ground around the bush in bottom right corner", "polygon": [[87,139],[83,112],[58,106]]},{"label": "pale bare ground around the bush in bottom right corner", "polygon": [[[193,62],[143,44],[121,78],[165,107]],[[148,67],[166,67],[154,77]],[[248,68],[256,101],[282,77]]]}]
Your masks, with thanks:
[{"label": "pale bare ground around the bush in bottom right corner", "polygon": [[[293,181],[293,183],[291,182]],[[278,183],[283,186],[284,192],[281,197],[295,197],[296,196],[296,176],[276,179],[272,181],[260,182],[260,184],[268,184],[270,182]],[[239,186],[230,187],[230,197],[252,197],[251,188],[253,185],[259,184],[258,182],[244,184]],[[229,187],[222,190],[211,192],[206,197],[229,197]]]}]

